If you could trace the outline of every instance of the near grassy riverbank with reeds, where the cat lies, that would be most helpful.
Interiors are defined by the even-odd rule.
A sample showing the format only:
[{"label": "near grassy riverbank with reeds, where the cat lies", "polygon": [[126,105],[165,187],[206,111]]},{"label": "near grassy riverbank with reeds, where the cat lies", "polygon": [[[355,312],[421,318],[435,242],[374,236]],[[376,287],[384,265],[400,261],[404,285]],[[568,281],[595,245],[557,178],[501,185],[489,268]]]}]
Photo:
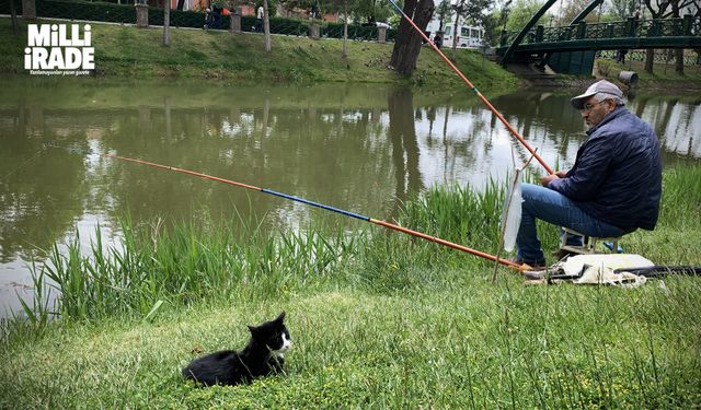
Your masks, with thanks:
[{"label": "near grassy riverbank with reeds, where the cat lies", "polygon": [[[701,167],[667,169],[664,192],[658,227],[623,246],[700,265]],[[502,196],[433,190],[406,204],[402,224],[492,251]],[[535,286],[502,269],[491,284],[492,263],[379,227],[356,226],[372,237],[315,226],[271,238],[250,226],[239,236],[202,221],[127,223],[119,257],[62,259],[51,273],[62,319],[4,329],[0,408],[701,405],[698,278]],[[551,249],[555,236],[543,231]],[[295,342],[285,376],[182,380],[195,351],[241,348],[244,325],[283,309]]]}]

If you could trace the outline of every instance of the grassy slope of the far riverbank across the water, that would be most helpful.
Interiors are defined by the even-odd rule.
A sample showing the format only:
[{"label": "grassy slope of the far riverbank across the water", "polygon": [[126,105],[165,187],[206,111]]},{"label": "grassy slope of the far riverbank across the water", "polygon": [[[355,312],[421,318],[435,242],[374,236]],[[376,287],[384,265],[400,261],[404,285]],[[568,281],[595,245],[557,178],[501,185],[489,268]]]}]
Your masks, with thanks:
[{"label": "grassy slope of the far riverbank across the water", "polygon": [[[10,19],[0,19],[0,73],[24,72],[26,22],[12,35]],[[435,87],[461,84],[458,77],[428,48],[406,80],[388,69],[391,44],[349,40],[348,57],[342,42],[308,37],[273,36],[273,51],[265,52],[263,35],[222,31],[172,30],[172,44],[162,46],[162,28],[92,24],[99,77],[195,78],[225,81],[323,81],[413,83]],[[479,87],[508,90],[520,81],[475,51],[459,50],[456,65]],[[462,87],[464,85],[461,85]]]}]

